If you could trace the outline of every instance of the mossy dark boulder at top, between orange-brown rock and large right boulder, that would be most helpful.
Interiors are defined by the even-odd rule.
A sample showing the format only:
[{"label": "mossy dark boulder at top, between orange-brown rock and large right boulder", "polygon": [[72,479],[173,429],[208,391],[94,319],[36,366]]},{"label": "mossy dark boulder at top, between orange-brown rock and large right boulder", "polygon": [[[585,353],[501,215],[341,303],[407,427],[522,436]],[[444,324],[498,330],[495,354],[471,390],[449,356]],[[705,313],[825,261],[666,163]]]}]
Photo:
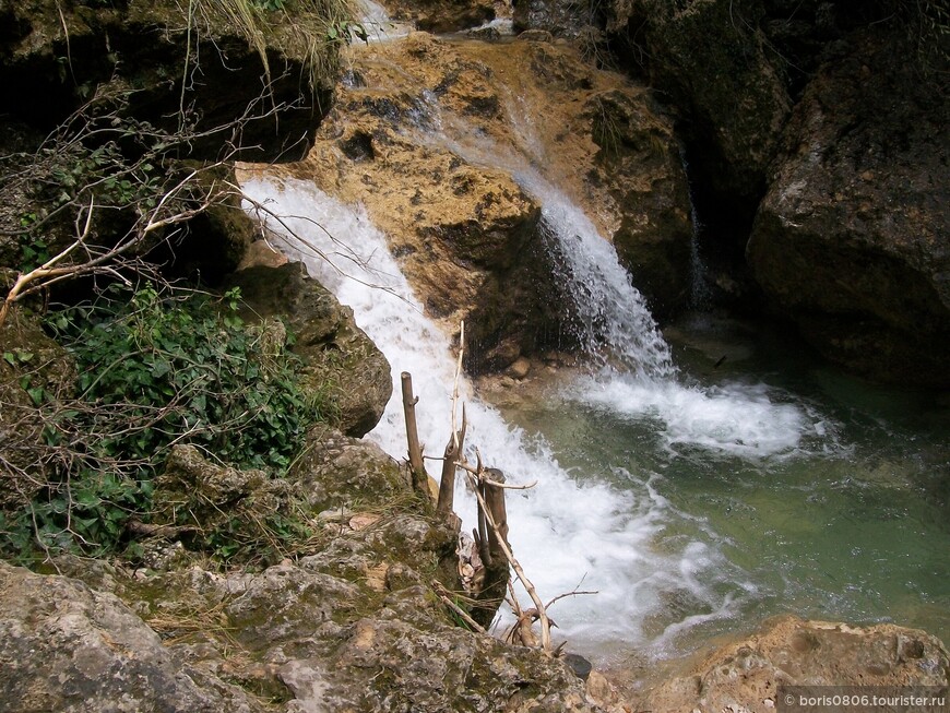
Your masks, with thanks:
[{"label": "mossy dark boulder at top, between orange-brown rock and large right boulder", "polygon": [[618,0],[608,31],[625,64],[675,108],[701,217],[716,249],[748,235],[765,171],[792,110],[785,58],[763,31],[760,0]]}]

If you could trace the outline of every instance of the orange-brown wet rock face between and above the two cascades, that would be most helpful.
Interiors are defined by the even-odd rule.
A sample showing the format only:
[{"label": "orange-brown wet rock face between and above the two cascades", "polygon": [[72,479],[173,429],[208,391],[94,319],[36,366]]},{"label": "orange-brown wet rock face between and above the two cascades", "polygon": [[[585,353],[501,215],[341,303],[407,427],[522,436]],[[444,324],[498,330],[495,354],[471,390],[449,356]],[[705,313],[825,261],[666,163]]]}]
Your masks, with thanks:
[{"label": "orange-brown wet rock face between and above the two cascades", "polygon": [[687,183],[669,122],[642,88],[543,41],[417,33],[351,61],[307,162],[290,170],[366,205],[430,313],[450,331],[466,320],[472,366],[503,368],[570,338],[539,205],[519,173],[584,205],[656,309],[684,304]]}]

